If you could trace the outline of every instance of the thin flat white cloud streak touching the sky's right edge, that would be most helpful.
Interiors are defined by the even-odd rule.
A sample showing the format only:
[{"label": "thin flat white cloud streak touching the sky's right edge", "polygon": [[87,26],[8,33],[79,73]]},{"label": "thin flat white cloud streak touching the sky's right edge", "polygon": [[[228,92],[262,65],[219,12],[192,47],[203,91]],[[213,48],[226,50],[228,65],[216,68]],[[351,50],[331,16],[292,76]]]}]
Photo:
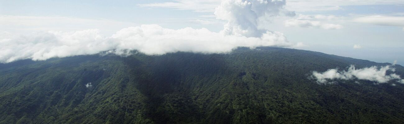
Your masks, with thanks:
[{"label": "thin flat white cloud streak touching the sky's right edge", "polygon": [[387,16],[367,16],[358,17],[353,19],[353,21],[358,23],[368,23],[372,25],[382,25],[382,26],[404,26],[404,17],[387,17]]}]

